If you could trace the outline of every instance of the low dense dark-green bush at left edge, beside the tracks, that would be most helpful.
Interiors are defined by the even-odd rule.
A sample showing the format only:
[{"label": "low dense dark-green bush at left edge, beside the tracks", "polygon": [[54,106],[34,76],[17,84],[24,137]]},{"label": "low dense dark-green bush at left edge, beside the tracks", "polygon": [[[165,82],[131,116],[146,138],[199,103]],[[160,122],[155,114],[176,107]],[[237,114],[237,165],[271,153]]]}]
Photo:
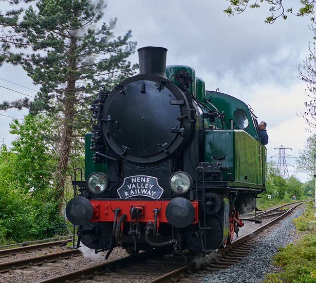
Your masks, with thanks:
[{"label": "low dense dark-green bush at left edge, beside the tracks", "polygon": [[[40,197],[0,188],[0,233],[2,244],[67,234],[64,219],[53,200],[43,203]],[[6,194],[6,195],[4,195]]]}]

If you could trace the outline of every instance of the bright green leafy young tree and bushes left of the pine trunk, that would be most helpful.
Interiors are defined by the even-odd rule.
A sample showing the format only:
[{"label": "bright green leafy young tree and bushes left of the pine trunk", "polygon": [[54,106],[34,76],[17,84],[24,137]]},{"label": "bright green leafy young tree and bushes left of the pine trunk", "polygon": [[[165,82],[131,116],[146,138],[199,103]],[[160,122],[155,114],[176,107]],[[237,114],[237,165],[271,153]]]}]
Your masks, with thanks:
[{"label": "bright green leafy young tree and bushes left of the pine trunk", "polygon": [[0,245],[67,232],[53,190],[53,164],[47,139],[52,122],[39,116],[13,120],[18,135],[8,150],[0,149]]}]

